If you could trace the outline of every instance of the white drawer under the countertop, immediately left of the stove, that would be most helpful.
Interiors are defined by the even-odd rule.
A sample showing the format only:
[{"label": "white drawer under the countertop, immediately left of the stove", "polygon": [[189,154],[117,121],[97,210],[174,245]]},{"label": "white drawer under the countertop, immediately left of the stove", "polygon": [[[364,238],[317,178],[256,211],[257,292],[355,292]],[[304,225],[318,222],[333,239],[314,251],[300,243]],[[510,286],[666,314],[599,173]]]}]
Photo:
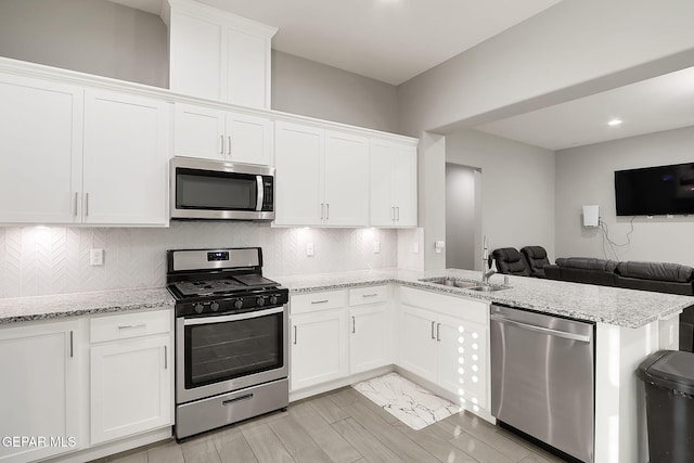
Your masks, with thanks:
[{"label": "white drawer under the countertop, immediately left of the stove", "polygon": [[89,340],[101,343],[168,333],[171,331],[171,317],[172,313],[169,310],[157,310],[91,319]]}]

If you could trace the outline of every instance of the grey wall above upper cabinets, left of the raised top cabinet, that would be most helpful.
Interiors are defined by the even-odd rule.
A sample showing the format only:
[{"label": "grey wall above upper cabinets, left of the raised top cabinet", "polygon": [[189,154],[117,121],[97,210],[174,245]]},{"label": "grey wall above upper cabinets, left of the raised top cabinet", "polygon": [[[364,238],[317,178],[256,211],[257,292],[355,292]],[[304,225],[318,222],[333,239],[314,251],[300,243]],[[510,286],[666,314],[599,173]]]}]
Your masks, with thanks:
[{"label": "grey wall above upper cabinets, left of the raised top cabinet", "polygon": [[0,55],[168,88],[157,15],[105,0],[0,0]]}]

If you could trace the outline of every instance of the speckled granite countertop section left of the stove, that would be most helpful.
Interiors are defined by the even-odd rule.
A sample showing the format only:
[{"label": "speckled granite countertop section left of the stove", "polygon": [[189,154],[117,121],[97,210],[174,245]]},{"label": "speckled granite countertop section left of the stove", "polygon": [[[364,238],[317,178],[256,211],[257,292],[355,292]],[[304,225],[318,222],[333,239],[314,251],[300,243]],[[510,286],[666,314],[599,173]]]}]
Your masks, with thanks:
[{"label": "speckled granite countertop section left of the stove", "polygon": [[174,309],[174,303],[165,287],[0,299],[0,325],[94,313]]}]

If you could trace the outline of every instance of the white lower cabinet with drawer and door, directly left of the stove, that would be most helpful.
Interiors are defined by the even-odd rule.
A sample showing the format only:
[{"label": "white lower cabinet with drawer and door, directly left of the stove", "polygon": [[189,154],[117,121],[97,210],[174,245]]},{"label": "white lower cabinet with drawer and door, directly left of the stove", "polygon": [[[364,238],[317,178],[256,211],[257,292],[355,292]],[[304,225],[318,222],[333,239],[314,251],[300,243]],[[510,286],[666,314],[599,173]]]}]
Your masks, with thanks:
[{"label": "white lower cabinet with drawer and door, directly left of the stove", "polygon": [[172,424],[170,312],[91,320],[91,443]]}]

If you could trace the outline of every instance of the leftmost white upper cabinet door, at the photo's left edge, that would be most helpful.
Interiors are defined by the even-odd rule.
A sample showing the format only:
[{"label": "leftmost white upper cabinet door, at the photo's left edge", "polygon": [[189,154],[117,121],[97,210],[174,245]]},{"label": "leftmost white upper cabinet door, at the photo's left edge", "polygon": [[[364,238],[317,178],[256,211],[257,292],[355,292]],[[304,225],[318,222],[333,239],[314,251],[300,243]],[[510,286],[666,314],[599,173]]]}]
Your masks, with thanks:
[{"label": "leftmost white upper cabinet door, at the photo's left edge", "polygon": [[83,90],[0,75],[0,223],[79,221]]}]

